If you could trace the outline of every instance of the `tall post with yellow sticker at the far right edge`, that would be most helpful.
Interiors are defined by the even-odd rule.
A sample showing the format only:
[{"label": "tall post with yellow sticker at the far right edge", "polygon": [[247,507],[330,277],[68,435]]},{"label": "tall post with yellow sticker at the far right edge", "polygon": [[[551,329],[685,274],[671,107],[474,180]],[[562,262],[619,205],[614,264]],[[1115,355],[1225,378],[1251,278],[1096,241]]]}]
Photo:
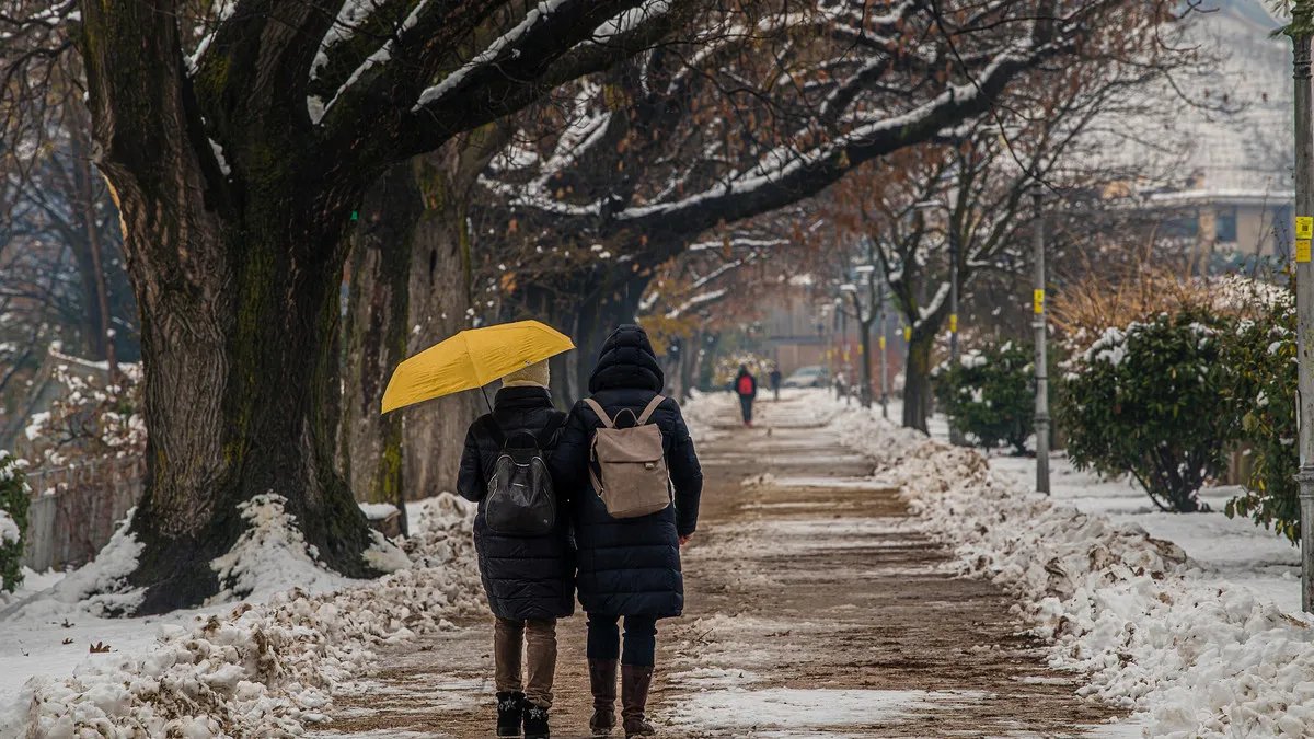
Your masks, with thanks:
[{"label": "tall post with yellow sticker at the far right edge", "polygon": [[1311,130],[1310,32],[1314,1],[1297,0],[1292,9],[1293,64],[1296,80],[1296,316],[1301,468],[1296,475],[1301,501],[1301,609],[1314,611],[1314,130]]}]

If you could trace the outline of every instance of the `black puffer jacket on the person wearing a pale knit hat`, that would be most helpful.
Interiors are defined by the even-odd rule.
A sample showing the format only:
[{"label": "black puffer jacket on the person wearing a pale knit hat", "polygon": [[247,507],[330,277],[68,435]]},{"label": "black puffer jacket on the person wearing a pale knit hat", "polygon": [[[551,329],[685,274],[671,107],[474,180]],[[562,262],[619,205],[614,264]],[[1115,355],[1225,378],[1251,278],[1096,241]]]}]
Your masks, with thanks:
[{"label": "black puffer jacket on the person wearing a pale knit hat", "polygon": [[[574,613],[574,555],[570,546],[569,489],[557,492],[557,529],[545,536],[503,536],[489,530],[484,496],[502,447],[485,427],[486,416],[465,434],[465,452],[456,490],[480,504],[474,518],[474,548],[480,576],[493,615],[514,621],[547,619]],[[560,429],[565,414],[552,406],[543,388],[502,388],[493,419],[505,435]],[[544,450],[551,452],[551,447]],[[551,454],[549,454],[551,456]]]}]

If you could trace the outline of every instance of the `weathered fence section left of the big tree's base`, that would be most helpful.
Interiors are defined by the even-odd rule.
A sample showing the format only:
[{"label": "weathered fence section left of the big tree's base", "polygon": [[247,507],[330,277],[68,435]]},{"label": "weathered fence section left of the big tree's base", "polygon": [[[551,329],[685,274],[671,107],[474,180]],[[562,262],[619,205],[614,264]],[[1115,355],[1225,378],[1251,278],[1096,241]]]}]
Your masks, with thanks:
[{"label": "weathered fence section left of the big tree's base", "polygon": [[141,459],[29,472],[34,497],[28,508],[22,563],[42,572],[91,561],[141,500],[143,476]]}]

